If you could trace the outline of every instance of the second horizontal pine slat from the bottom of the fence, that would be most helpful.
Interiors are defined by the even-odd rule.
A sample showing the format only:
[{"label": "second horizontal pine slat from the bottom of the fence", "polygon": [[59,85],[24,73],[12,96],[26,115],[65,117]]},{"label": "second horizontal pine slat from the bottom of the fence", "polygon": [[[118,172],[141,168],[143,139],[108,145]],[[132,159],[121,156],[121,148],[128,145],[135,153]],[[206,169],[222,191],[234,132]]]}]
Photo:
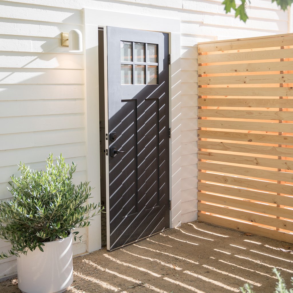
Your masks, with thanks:
[{"label": "second horizontal pine slat from the bottom of the fence", "polygon": [[199,202],[198,210],[221,216],[232,217],[235,219],[241,219],[248,222],[259,223],[266,226],[277,227],[279,229],[293,230],[293,222],[277,219],[276,217],[268,217],[260,214],[253,214],[247,211],[240,211],[239,209],[236,210],[226,207],[218,207]]}]

